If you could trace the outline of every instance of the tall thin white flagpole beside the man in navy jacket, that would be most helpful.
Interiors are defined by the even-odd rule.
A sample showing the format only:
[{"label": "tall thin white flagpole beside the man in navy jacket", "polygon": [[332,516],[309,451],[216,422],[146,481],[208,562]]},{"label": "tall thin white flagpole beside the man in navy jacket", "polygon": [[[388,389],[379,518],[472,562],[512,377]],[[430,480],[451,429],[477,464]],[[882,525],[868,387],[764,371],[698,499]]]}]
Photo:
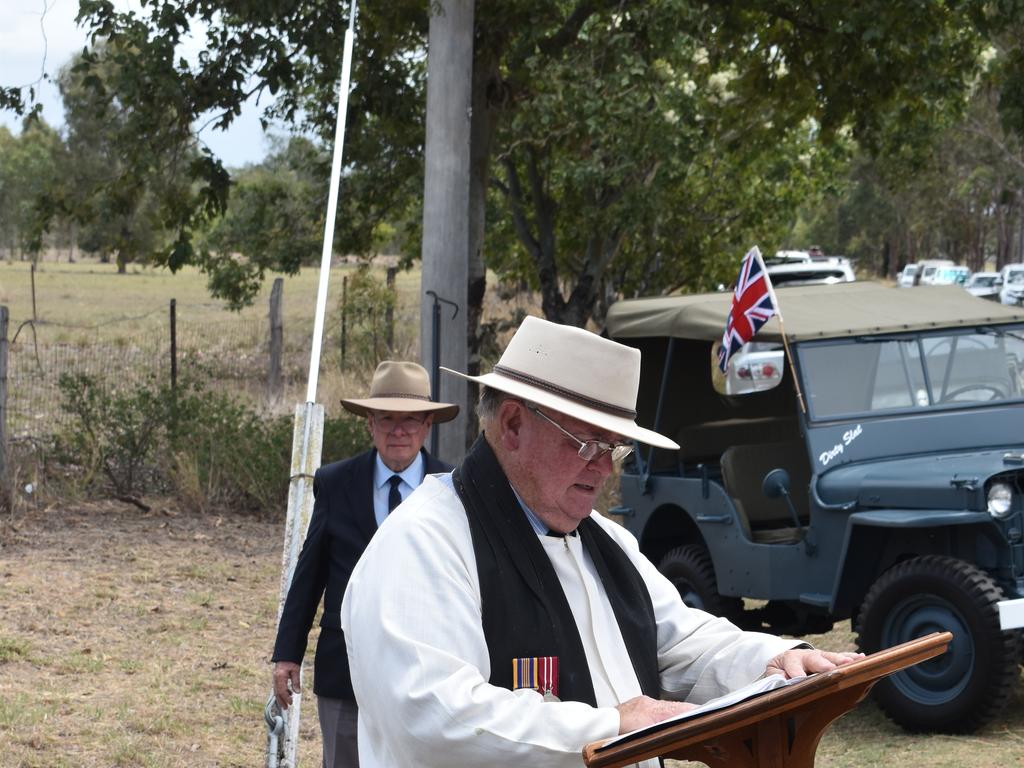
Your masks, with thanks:
[{"label": "tall thin white flagpole beside the man in navy jacket", "polygon": [[[288,493],[288,519],[282,557],[281,595],[278,602],[278,623],[285,599],[292,586],[292,575],[298,560],[299,546],[305,538],[312,513],[312,478],[321,463],[324,435],[324,407],[316,403],[316,383],[319,377],[321,346],[324,339],[324,317],[327,313],[327,289],[331,279],[334,253],[334,228],[338,209],[338,187],[341,183],[341,160],[345,146],[345,118],[348,113],[348,91],[351,85],[352,48],[355,40],[355,0],[348,6],[348,29],[342,53],[341,83],[338,86],[338,117],[334,132],[334,157],[331,163],[331,186],[328,195],[327,219],[324,223],[324,248],[321,252],[319,285],[313,338],[309,351],[309,378],[305,407],[297,406],[292,436],[292,470]],[[302,671],[299,671],[302,679]],[[273,691],[267,700],[264,719],[267,725],[266,768],[296,768],[299,737],[299,716],[302,696],[293,693],[292,705],[282,711]]]}]

